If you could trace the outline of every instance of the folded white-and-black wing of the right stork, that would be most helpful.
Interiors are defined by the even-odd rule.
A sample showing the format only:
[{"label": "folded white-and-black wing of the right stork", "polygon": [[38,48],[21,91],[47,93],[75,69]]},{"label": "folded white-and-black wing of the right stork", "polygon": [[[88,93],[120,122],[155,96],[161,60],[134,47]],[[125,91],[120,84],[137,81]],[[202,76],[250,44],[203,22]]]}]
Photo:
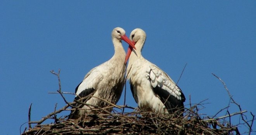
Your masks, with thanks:
[{"label": "folded white-and-black wing of the right stork", "polygon": [[179,108],[184,108],[185,96],[182,90],[164,71],[151,64],[147,70],[147,78],[150,80],[154,93],[165,103],[164,105],[169,113],[173,113]]}]

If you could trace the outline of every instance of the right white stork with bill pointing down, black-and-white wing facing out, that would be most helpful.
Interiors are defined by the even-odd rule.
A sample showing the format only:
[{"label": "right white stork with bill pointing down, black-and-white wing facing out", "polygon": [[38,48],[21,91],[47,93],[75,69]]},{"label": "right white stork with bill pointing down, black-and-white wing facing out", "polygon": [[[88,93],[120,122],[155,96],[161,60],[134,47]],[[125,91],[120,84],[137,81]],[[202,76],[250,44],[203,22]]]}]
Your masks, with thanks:
[{"label": "right white stork with bill pointing down, black-and-white wing facing out", "polygon": [[[130,40],[136,50],[129,46],[126,54],[126,76],[130,79],[133,98],[138,107],[146,111],[170,114],[184,111],[185,96],[175,82],[155,64],[142,57],[141,51],[146,40],[146,33],[142,29],[134,29]],[[183,113],[181,115],[183,115]]]}]

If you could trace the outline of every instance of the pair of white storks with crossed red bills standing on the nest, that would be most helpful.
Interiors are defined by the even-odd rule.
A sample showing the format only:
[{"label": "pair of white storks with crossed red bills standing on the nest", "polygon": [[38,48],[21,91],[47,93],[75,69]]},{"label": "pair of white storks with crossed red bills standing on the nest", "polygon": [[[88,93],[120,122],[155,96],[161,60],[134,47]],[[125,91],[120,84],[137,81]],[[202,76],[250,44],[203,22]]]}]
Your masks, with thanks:
[{"label": "pair of white storks with crossed red bills standing on the nest", "polygon": [[[121,40],[129,44],[127,55]],[[145,40],[146,34],[142,29],[133,30],[130,39],[125,35],[124,29],[120,27],[113,29],[114,56],[85,75],[83,81],[76,87],[75,100],[94,93],[93,97],[85,101],[86,104],[102,108],[109,105],[107,102],[116,104],[123,91],[126,62],[130,57],[126,76],[130,79],[131,92],[138,107],[164,114],[175,111],[182,114],[185,96],[164,71],[142,57],[141,51]],[[75,106],[78,105],[77,103]],[[83,105],[81,108],[81,110],[71,111],[69,118],[77,119],[92,107]],[[108,111],[112,111],[112,108]]]}]

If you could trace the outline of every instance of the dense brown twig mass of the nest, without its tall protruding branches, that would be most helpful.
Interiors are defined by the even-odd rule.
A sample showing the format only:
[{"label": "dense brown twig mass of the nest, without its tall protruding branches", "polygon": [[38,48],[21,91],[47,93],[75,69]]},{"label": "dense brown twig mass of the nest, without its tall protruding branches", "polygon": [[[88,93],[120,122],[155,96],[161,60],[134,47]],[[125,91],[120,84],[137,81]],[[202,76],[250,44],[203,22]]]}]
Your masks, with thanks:
[{"label": "dense brown twig mass of the nest, without its tall protruding branches", "polygon": [[[104,108],[102,108],[104,109]],[[90,134],[166,134],[166,135],[230,135],[240,134],[236,126],[221,119],[203,120],[197,107],[187,110],[183,117],[176,114],[161,115],[143,110],[130,113],[88,113],[78,120],[53,119],[51,124],[40,124],[22,135],[90,135]],[[239,113],[237,113],[239,114]],[[31,122],[35,123],[35,122]]]}]

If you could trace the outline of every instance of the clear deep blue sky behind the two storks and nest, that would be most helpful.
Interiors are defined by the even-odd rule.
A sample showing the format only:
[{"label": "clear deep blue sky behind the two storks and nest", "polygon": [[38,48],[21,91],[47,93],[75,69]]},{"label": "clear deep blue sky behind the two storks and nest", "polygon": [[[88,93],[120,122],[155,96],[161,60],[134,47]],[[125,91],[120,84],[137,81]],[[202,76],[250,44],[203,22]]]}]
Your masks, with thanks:
[{"label": "clear deep blue sky behind the two storks and nest", "polygon": [[[0,131],[19,134],[19,127],[64,106],[62,91],[74,92],[85,74],[114,53],[111,31],[122,27],[147,33],[143,56],[178,85],[189,104],[204,103],[199,113],[212,116],[228,106],[221,82],[242,110],[256,115],[256,1],[9,1],[0,2]],[[125,50],[128,45],[123,43]],[[66,95],[73,101],[73,95]],[[127,87],[127,101],[136,107]],[[118,105],[123,104],[123,96]],[[189,106],[187,106],[189,107]],[[238,110],[232,105],[230,113]],[[69,112],[62,113],[67,115]],[[225,115],[225,112],[218,116]],[[249,113],[245,115],[251,118]],[[232,123],[237,123],[234,117]],[[254,130],[255,130],[254,122]],[[21,128],[28,127],[26,124]],[[239,128],[246,131],[245,127]]]}]

